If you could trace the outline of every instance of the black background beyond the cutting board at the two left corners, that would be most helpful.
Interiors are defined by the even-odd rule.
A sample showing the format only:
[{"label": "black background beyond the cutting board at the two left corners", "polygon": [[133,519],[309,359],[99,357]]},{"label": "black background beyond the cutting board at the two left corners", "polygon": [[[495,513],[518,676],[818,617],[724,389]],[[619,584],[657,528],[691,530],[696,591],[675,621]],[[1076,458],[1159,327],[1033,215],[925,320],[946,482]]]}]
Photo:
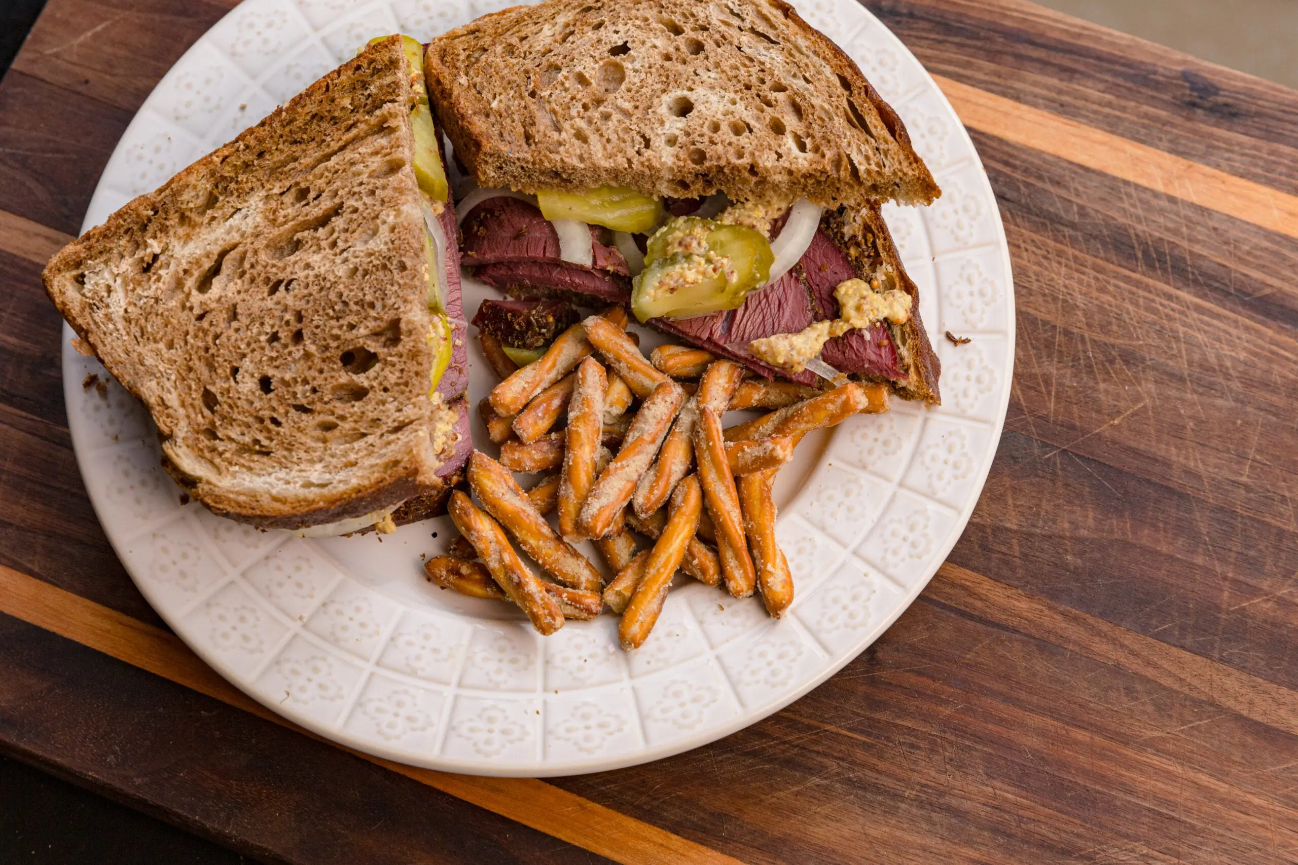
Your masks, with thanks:
[{"label": "black background beyond the cutting board at the two left corners", "polygon": [[[0,0],[4,78],[45,0]],[[236,865],[251,860],[0,756],[0,862]]]}]

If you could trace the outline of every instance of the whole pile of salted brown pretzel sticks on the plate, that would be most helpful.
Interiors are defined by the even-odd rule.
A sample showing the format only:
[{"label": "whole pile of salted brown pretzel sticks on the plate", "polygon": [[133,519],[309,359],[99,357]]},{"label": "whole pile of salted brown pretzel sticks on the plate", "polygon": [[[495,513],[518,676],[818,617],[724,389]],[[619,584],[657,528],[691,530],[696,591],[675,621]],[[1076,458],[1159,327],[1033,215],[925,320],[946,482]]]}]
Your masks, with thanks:
[{"label": "whole pile of salted brown pretzel sticks on the plate", "polygon": [[[649,637],[678,571],[735,598],[755,591],[783,616],[793,578],[775,539],[776,472],[813,429],[888,411],[887,390],[746,377],[737,363],[680,345],[646,358],[626,328],[622,307],[592,315],[523,367],[479,333],[501,377],[479,406],[500,459],[470,458],[472,497],[456,490],[448,506],[459,537],[450,555],[426,562],[428,580],[513,602],[543,634],[607,607],[622,616],[627,650]],[[723,429],[722,415],[739,409],[771,411]],[[514,472],[553,473],[523,490]],[[558,530],[546,521],[556,510]],[[572,546],[584,539],[615,575],[607,582]]]}]

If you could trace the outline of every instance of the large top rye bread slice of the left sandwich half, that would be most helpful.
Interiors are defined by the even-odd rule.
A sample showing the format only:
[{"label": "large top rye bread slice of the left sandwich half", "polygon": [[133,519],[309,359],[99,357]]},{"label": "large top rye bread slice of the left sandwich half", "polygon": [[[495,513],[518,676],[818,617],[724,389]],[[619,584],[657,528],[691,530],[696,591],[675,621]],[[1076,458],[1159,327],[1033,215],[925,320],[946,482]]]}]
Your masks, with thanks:
[{"label": "large top rye bread slice of the left sandwich half", "polygon": [[441,486],[413,99],[378,43],[45,267],[217,514],[304,528]]}]

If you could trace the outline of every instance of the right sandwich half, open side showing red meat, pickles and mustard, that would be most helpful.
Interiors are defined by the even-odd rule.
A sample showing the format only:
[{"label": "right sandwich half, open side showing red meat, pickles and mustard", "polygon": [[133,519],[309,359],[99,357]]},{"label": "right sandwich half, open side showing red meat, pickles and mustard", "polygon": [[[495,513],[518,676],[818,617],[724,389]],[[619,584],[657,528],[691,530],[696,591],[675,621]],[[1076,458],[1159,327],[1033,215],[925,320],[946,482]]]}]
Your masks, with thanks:
[{"label": "right sandwich half, open side showing red meat, pickles and mustard", "polygon": [[880,204],[940,189],[851,60],[781,0],[548,0],[434,39],[462,263],[627,303],[767,379],[940,402]]}]

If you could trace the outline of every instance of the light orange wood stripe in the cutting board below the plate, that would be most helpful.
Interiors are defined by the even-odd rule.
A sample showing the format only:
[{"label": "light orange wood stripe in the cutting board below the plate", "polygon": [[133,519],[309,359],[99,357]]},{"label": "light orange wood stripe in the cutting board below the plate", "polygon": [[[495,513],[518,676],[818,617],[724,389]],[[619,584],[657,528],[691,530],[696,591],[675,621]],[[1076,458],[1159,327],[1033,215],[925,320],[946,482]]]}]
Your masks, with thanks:
[{"label": "light orange wood stripe in the cutting board below the plate", "polygon": [[[0,565],[0,612],[51,630],[60,637],[139,667],[200,694],[215,698],[305,737],[319,738],[265,708],[221,678],[178,637],[131,616],[101,607],[80,595]],[[408,766],[382,757],[347,751],[430,787],[471,801],[524,826],[627,865],[654,862],[715,862],[737,860],[631,820],[609,808],[533,778],[480,778]]]}]

